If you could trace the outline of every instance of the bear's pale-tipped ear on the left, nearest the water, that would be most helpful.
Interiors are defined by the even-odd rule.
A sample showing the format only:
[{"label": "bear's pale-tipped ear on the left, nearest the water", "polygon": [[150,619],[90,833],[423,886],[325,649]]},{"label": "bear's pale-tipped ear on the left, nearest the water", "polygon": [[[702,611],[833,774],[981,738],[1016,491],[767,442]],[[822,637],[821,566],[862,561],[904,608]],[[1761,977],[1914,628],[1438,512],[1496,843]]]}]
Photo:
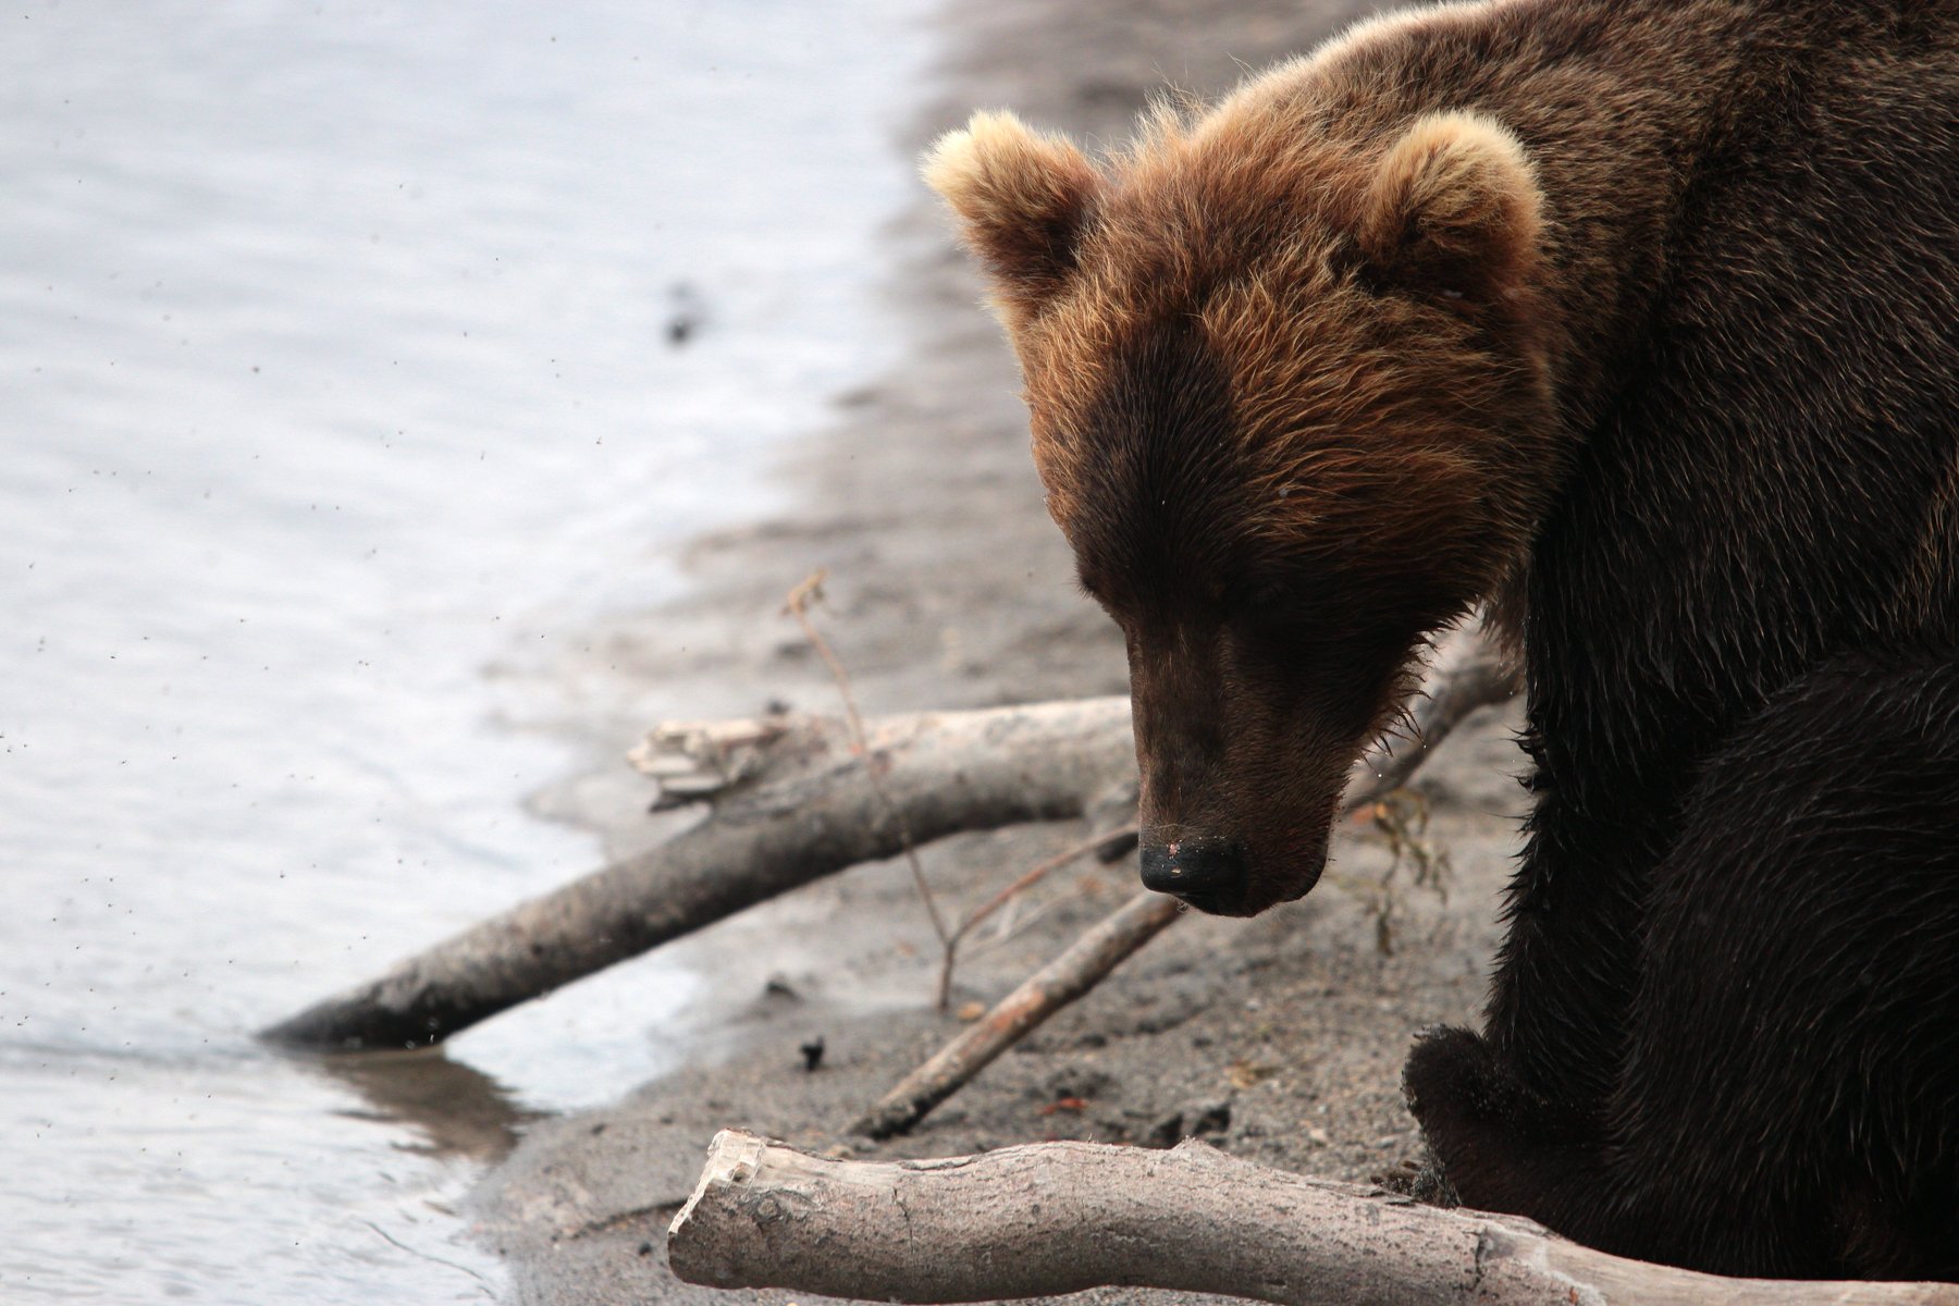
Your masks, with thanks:
[{"label": "bear's pale-tipped ear on the left, nearest the water", "polygon": [[1101,182],[1070,141],[1013,114],[974,114],[925,157],[927,184],[960,217],[1005,307],[1030,313],[1075,266],[1075,243]]}]

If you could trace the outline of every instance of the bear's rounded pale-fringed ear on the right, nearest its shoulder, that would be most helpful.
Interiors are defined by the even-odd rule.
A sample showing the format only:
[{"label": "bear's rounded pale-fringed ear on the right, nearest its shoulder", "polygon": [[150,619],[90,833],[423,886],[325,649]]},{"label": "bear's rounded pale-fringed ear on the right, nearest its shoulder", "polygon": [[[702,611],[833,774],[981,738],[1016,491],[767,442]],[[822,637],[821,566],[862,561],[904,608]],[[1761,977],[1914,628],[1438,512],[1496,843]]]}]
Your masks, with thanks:
[{"label": "bear's rounded pale-fringed ear on the right, nearest its shoulder", "polygon": [[1377,164],[1356,239],[1375,284],[1479,307],[1528,284],[1542,208],[1508,129],[1479,114],[1428,114]]}]

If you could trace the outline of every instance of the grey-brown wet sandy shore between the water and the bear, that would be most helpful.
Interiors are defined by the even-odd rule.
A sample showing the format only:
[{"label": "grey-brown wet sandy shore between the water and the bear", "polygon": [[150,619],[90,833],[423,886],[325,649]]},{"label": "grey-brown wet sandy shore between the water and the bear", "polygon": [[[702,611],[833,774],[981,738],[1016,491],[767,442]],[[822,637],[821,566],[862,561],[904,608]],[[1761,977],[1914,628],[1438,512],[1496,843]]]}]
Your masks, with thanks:
[{"label": "grey-brown wet sandy shore between the water and the bear", "polygon": [[[1115,141],[1166,82],[1218,92],[1244,67],[1369,10],[956,0],[940,20],[950,59],[936,100],[901,145],[923,149],[983,106]],[[699,540],[688,558],[692,599],[609,630],[590,666],[570,668],[592,685],[594,717],[582,726],[613,758],[660,719],[744,715],[770,699],[835,711],[829,676],[780,615],[784,593],[819,566],[831,574],[819,621],[866,713],[1124,689],[1121,642],[1075,595],[1042,513],[1011,358],[923,188],[893,225],[891,251],[878,274],[889,278],[915,356],[840,396],[835,429],[788,460],[801,507]],[[931,1008],[938,950],[901,863],[858,867],[674,944],[711,977],[678,1032],[692,1069],[535,1126],[478,1190],[482,1234],[509,1259],[523,1302],[811,1302],[690,1288],[668,1273],[666,1226],[715,1130],[907,1157],[1048,1138],[1166,1143],[1195,1128],[1236,1155],[1316,1175],[1393,1169],[1418,1149],[1399,1091],[1410,1034],[1467,1020],[1481,1001],[1520,809],[1510,724],[1483,713],[1424,770],[1430,836],[1454,873],[1444,901],[1409,889],[1403,871],[1393,956],[1377,948],[1352,887],[1379,877],[1389,856],[1356,826],[1305,903],[1250,922],[1181,920],[887,1145],[842,1128],[958,1028]],[[641,815],[646,797],[613,764],[545,807],[597,824],[625,852],[670,828]],[[1081,836],[1079,824],[962,836],[925,850],[925,867],[940,907],[964,914]],[[1132,887],[1128,863],[1050,877],[1005,940],[970,948],[954,1004],[995,1001]],[[823,1063],[807,1073],[797,1048],[817,1036]],[[1056,1108],[1060,1098],[1085,1106]]]}]

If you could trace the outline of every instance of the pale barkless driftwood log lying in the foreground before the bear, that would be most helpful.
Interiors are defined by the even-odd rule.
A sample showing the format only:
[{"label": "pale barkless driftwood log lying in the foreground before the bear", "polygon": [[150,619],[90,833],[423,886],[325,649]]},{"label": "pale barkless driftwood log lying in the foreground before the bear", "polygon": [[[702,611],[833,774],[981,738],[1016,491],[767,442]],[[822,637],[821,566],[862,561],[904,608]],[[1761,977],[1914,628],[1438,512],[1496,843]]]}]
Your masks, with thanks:
[{"label": "pale barkless driftwood log lying in the foreground before the bear", "polygon": [[1115,1284],[1289,1306],[1959,1306],[1951,1284],[1626,1261],[1516,1216],[1289,1175],[1195,1140],[866,1163],[725,1130],[666,1247],[688,1283],[885,1302]]}]

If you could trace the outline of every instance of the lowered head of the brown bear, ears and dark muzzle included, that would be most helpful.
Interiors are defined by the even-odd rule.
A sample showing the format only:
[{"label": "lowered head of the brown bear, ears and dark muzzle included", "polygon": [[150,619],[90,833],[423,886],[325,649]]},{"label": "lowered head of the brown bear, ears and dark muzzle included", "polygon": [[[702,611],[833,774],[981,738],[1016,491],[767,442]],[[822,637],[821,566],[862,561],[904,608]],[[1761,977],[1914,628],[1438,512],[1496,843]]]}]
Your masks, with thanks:
[{"label": "lowered head of the brown bear, ears and dark muzzle included", "polygon": [[1303,895],[1424,638],[1514,578],[1550,493],[1522,147],[1475,114],[1340,139],[1226,102],[1105,161],[980,114],[925,170],[1126,636],[1144,883]]}]

